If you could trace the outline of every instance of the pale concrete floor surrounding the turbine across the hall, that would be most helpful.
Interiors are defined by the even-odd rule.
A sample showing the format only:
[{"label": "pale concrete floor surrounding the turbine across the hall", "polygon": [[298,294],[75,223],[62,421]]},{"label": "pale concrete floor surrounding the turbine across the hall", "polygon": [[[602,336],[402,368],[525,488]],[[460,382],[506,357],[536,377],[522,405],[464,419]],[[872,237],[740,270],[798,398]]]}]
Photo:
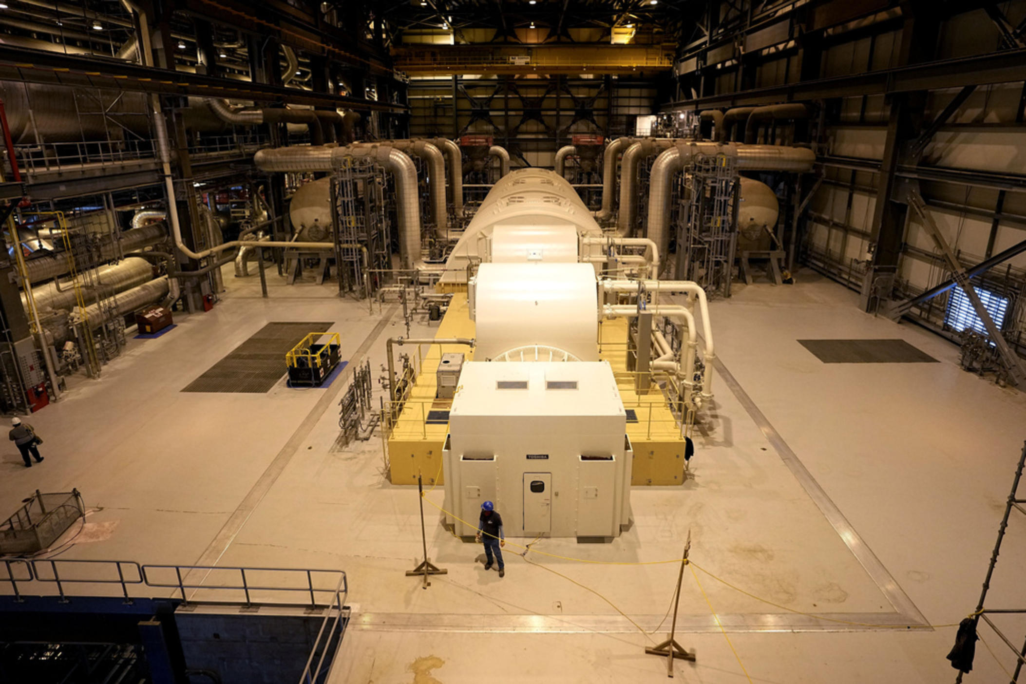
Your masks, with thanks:
[{"label": "pale concrete floor surrounding the turbine across the hall", "polygon": [[[181,393],[269,321],[336,321],[343,358],[369,358],[377,372],[385,339],[405,334],[401,314],[382,325],[377,307],[371,315],[328,285],[277,278],[263,299],[258,279],[225,273],[229,289],[213,311],[131,340],[100,380],[76,378],[30,418],[46,439],[43,464],[25,469],[15,449],[5,451],[4,510],[36,488],[82,491],[90,513],[78,536],[58,541],[61,558],[343,569],[354,620],[333,682],[659,681],[665,663],[642,647],[665,638],[665,622],[657,628],[678,568],[631,563],[678,558],[690,530],[692,558],[705,570],[791,610],[869,625],[818,622],[699,573],[752,681],[954,680],[944,659],[954,630],[894,629],[909,621],[895,596],[936,625],[975,606],[1026,439],[1026,397],[961,371],[945,340],[861,313],[854,293],[813,274],[794,286],[739,287],[712,309],[717,353],[737,387],[716,377],[693,480],[634,488],[634,525],[610,544],[546,539],[526,558],[508,546],[503,579],[428,507],[429,555],[448,574],[423,590],[404,576],[421,553],[416,489],[384,477],[377,435],[336,445],[345,378],[327,390]],[[431,330],[418,321],[412,332]],[[823,364],[796,341],[842,337],[900,337],[941,363]],[[767,426],[863,546],[838,534]],[[441,493],[429,498],[440,506]],[[1010,526],[992,605],[1026,599],[1023,522]],[[882,590],[852,548],[875,554]],[[689,572],[684,580],[678,641],[699,659],[678,662],[677,676],[747,681]],[[777,631],[751,631],[766,623]],[[1016,638],[1026,630],[1009,626]],[[984,637],[1011,669],[997,638]],[[966,681],[1001,678],[981,644]]]}]

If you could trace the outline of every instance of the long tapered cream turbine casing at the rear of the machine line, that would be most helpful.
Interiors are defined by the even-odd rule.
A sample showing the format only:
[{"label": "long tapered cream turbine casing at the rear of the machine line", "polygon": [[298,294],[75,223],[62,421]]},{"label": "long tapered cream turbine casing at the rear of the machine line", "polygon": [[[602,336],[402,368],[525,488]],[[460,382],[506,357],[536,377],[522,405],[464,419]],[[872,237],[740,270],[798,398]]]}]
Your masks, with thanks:
[{"label": "long tapered cream turbine casing at the rear of the machine line", "polygon": [[565,178],[540,168],[511,171],[496,183],[452,249],[440,280],[442,285],[467,282],[470,260],[487,260],[487,241],[497,225],[539,229],[568,226],[578,235],[602,234]]}]

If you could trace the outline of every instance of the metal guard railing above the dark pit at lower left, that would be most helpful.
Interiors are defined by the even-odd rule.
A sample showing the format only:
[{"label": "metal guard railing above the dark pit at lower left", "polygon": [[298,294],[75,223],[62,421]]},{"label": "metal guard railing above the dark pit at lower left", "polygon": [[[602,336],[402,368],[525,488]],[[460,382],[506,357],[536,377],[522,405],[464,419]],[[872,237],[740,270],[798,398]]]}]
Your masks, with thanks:
[{"label": "metal guard railing above the dark pit at lower left", "polygon": [[[173,598],[185,605],[201,603],[250,609],[273,605],[317,611],[342,606],[349,593],[343,570],[140,565],[134,561],[33,558],[5,558],[0,559],[0,563],[3,564],[0,586],[9,586],[18,602],[24,600],[28,590],[40,596],[54,595],[40,592],[46,586],[55,588],[55,595],[63,603],[75,596],[108,595],[113,587],[125,603],[137,598]],[[72,587],[86,591],[71,592]]]}]

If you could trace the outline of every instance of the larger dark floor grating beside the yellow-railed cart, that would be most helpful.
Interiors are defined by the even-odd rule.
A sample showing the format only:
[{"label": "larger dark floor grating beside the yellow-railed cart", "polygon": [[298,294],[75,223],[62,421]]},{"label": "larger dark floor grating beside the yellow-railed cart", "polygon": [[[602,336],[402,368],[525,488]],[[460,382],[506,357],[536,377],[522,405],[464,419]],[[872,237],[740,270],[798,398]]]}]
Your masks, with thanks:
[{"label": "larger dark floor grating beside the yellow-railed cart", "polygon": [[311,332],[326,332],[331,325],[324,321],[268,323],[182,391],[265,394],[285,374],[288,350]]}]

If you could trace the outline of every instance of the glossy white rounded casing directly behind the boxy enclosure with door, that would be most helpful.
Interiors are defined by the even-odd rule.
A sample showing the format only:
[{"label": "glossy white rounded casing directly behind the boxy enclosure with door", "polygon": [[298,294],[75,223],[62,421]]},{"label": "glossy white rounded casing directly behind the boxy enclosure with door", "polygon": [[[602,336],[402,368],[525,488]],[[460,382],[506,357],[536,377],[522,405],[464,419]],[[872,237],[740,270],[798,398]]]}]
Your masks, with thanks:
[{"label": "glossy white rounded casing directly behind the boxy enclosure with door", "polygon": [[597,361],[597,308],[588,264],[482,264],[474,287],[474,358],[545,345]]}]

